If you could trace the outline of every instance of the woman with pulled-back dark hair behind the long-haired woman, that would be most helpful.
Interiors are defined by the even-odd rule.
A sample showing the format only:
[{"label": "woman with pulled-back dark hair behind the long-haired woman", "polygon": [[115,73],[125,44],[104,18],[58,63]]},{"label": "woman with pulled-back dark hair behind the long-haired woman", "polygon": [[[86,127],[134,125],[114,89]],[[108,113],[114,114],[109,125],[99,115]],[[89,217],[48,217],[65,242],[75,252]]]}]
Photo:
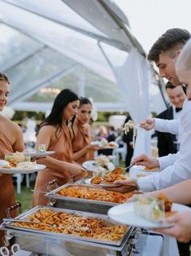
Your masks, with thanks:
[{"label": "woman with pulled-back dark hair behind the long-haired woman", "polygon": [[72,134],[72,159],[79,164],[93,159],[93,152],[98,150],[98,146],[91,145],[91,120],[92,103],[87,98],[80,98],[80,106],[76,118],[69,126]]}]

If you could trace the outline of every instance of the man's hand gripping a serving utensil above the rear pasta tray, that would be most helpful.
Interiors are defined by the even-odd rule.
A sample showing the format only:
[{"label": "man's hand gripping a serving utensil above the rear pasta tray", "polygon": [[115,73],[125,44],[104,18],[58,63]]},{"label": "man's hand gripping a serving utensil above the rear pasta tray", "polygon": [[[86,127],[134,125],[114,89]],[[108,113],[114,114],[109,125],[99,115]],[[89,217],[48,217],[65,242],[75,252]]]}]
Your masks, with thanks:
[{"label": "man's hand gripping a serving utensil above the rear pasta tray", "polygon": [[157,158],[149,157],[145,154],[141,154],[139,157],[134,158],[132,164],[136,166],[146,166],[148,168],[159,167]]}]

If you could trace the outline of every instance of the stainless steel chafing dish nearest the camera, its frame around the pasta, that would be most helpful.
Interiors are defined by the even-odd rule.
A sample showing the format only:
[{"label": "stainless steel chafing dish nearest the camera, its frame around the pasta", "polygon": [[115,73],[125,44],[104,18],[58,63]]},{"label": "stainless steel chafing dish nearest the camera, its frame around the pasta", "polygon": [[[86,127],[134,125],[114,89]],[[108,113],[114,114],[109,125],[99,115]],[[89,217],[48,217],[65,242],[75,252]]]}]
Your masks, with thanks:
[{"label": "stainless steel chafing dish nearest the camera, its frame around the pasta", "polygon": [[[79,214],[90,218],[101,218],[105,222],[115,223],[111,221],[106,215],[91,214],[87,212],[80,212],[74,210],[63,210],[53,207],[37,206],[32,210],[28,210],[20,214],[15,219],[28,219],[31,214],[40,209],[50,209],[54,212],[65,211],[70,214]],[[37,229],[30,229],[26,227],[15,227],[13,223],[4,222],[0,226],[2,230],[7,232],[7,237],[11,238],[11,243],[17,243],[20,248],[28,251],[33,251],[38,254],[45,254],[51,256],[59,255],[128,255],[129,244],[128,241],[133,227],[128,227],[124,236],[120,241],[103,241],[98,239],[86,238],[81,236],[72,236],[55,232],[46,232]]]}]

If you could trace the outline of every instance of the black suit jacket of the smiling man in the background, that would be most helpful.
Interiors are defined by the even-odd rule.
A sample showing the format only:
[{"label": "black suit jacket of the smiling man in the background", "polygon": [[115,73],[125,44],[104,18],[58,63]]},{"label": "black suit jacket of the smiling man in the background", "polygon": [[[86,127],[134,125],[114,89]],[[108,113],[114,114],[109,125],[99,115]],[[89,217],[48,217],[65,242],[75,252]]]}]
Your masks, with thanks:
[{"label": "black suit jacket of the smiling man in the background", "polygon": [[[172,107],[167,108],[167,110],[160,113],[157,118],[161,119],[174,119],[173,118],[173,111]],[[167,156],[170,153],[176,153],[176,143],[173,143],[176,141],[176,135],[171,135],[167,132],[157,132],[158,137],[158,156],[164,157]]]}]

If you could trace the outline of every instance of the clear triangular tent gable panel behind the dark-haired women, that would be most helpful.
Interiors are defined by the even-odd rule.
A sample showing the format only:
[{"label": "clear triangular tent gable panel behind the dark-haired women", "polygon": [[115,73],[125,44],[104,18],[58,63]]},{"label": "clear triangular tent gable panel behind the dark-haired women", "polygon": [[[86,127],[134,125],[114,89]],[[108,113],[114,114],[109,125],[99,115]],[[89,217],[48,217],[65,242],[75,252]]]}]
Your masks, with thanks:
[{"label": "clear triangular tent gable panel behind the dark-haired women", "polygon": [[[54,90],[51,94],[51,89],[63,90],[70,88],[73,91],[78,91],[80,95],[80,73],[81,67],[78,65],[75,70],[68,73],[64,77],[60,77],[51,86],[48,86],[46,90],[40,90],[35,95],[28,99],[28,102],[51,102],[54,100]],[[85,79],[85,96],[93,98],[94,102],[99,101],[100,103],[112,102],[113,104],[121,102],[121,96],[119,87],[115,84],[106,80],[105,78],[98,76],[96,73],[92,73],[87,68],[84,69]],[[81,96],[81,95],[80,95]]]}]

